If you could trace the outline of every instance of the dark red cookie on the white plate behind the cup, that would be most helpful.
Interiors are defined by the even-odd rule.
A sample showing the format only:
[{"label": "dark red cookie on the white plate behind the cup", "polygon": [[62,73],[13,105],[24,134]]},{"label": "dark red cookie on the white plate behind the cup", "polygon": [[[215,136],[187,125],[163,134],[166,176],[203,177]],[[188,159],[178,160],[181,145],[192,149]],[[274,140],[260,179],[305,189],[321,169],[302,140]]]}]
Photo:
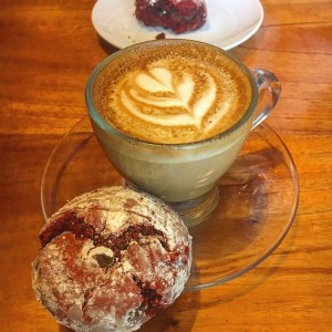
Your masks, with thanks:
[{"label": "dark red cookie on the white plate behind the cup", "polygon": [[147,27],[183,33],[204,25],[207,8],[205,0],[135,0],[135,15]]}]

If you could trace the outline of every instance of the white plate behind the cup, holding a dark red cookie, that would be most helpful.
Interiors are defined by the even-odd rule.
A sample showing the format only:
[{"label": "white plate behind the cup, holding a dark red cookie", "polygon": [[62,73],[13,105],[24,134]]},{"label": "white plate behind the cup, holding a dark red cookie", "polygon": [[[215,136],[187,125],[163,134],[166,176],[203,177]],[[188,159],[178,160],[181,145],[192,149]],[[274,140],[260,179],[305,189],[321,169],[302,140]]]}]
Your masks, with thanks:
[{"label": "white plate behind the cup, holding a dark red cookie", "polygon": [[156,39],[160,32],[166,38],[198,40],[232,49],[252,37],[263,20],[259,0],[206,0],[207,22],[199,30],[175,34],[170,30],[149,28],[134,15],[134,0],[98,0],[92,10],[92,23],[97,33],[118,49]]}]

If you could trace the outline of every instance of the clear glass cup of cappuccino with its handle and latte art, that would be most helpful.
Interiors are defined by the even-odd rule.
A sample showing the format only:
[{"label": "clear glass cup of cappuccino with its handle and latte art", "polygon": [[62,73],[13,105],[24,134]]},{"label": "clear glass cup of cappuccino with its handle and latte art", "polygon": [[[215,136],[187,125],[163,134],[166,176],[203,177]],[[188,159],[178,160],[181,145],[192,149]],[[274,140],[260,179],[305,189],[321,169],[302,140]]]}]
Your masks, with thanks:
[{"label": "clear glass cup of cappuccino with its handle and latte art", "polygon": [[113,166],[126,183],[168,201],[188,226],[214,210],[219,178],[279,94],[273,73],[250,72],[216,46],[179,39],[110,55],[85,91]]}]

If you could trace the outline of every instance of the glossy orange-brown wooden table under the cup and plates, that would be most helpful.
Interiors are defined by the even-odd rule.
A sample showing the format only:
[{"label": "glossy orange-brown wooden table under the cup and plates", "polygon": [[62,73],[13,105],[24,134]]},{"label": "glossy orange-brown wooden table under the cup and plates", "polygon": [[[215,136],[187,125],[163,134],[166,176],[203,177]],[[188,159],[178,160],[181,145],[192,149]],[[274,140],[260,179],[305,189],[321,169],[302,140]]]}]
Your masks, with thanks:
[{"label": "glossy orange-brown wooden table under the cup and plates", "polygon": [[[92,69],[115,51],[91,24],[93,4],[0,3],[1,331],[68,331],[34,299],[30,263],[44,222],[45,163],[86,114]],[[298,215],[270,258],[229,283],[184,293],[158,318],[160,331],[332,331],[332,2],[262,4],[262,27],[231,52],[282,82],[268,123],[298,167]]]}]

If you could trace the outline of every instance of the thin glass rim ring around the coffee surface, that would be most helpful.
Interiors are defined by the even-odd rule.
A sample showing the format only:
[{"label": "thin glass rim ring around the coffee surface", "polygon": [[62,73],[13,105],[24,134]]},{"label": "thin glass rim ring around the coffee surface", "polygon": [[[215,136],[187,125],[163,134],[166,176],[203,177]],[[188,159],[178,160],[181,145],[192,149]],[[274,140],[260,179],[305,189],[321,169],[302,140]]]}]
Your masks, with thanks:
[{"label": "thin glass rim ring around the coffee surface", "polygon": [[[188,43],[188,44],[200,44],[204,46],[208,46],[208,48],[212,48],[215,50],[217,50],[218,52],[221,52],[222,54],[225,54],[228,59],[230,59],[232,62],[235,62],[247,75],[247,77],[250,81],[250,85],[251,85],[251,101],[249,103],[249,106],[247,108],[247,111],[245,112],[243,116],[236,122],[235,124],[232,124],[229,128],[227,128],[226,131],[218,133],[217,135],[214,135],[211,137],[201,139],[201,141],[196,141],[196,142],[187,142],[187,143],[155,143],[155,142],[147,142],[144,139],[139,139],[133,136],[129,136],[121,131],[118,131],[117,128],[115,128],[114,126],[112,126],[111,124],[108,124],[98,113],[98,111],[96,110],[96,106],[94,104],[93,101],[93,95],[92,95],[92,91],[93,91],[93,84],[95,82],[95,79],[97,77],[98,73],[115,58],[121,56],[121,54],[126,53],[131,50],[137,49],[137,48],[142,48],[144,45],[152,45],[152,44],[163,44],[163,43]],[[126,142],[133,143],[133,144],[137,144],[137,145],[143,145],[143,146],[149,146],[149,147],[163,147],[163,148],[169,148],[169,149],[186,149],[186,148],[194,148],[194,147],[199,147],[206,144],[210,144],[215,141],[219,141],[222,139],[227,136],[229,136],[231,133],[236,132],[238,128],[240,128],[242,125],[245,125],[247,123],[247,121],[249,121],[249,118],[251,117],[251,115],[253,114],[257,103],[258,103],[258,87],[257,87],[257,83],[256,80],[253,79],[250,70],[238,59],[236,58],[234,54],[228,53],[227,51],[215,46],[212,44],[206,43],[206,42],[200,42],[200,41],[195,41],[195,40],[187,40],[187,39],[165,39],[165,40],[151,40],[151,41],[145,41],[145,42],[141,42],[141,43],[136,43],[133,44],[131,46],[117,50],[116,52],[112,53],[111,55],[106,56],[103,61],[101,61],[95,69],[92,71],[92,73],[89,76],[87,83],[86,83],[86,87],[85,87],[85,103],[87,106],[87,112],[90,117],[106,133],[124,139]]]}]

